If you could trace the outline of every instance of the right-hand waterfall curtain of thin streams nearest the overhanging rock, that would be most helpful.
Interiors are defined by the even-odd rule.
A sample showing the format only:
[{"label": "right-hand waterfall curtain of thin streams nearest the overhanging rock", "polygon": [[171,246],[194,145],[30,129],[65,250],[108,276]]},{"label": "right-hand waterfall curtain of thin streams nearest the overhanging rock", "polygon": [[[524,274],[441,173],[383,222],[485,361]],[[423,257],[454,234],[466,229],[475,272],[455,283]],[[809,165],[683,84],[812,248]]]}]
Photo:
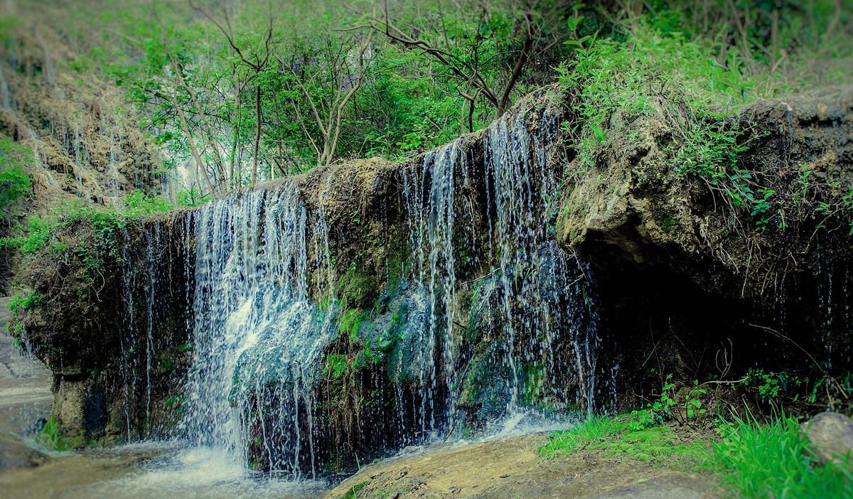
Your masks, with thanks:
[{"label": "right-hand waterfall curtain of thin streams nearest the overhanging rock", "polygon": [[[530,399],[541,391],[566,407],[566,399],[587,414],[595,408],[595,373],[599,347],[598,317],[590,289],[590,271],[582,262],[548,240],[548,212],[559,192],[554,170],[548,160],[557,129],[555,114],[543,113],[537,126],[525,113],[498,119],[484,132],[482,165],[470,165],[470,151],[464,138],[427,153],[422,171],[403,171],[403,193],[408,212],[409,244],[413,249],[412,275],[429,297],[429,331],[422,342],[431,357],[422,375],[429,383],[424,395],[425,411],[432,415],[438,397],[444,421],[431,426],[458,429],[464,421],[456,414],[462,380],[456,374],[467,371],[476,357],[460,365],[457,314],[457,262],[455,237],[465,239],[466,228],[475,220],[473,202],[457,192],[473,185],[485,194],[489,227],[489,254],[497,253],[496,267],[479,284],[480,303],[471,311],[473,318],[488,315],[487,308],[500,310],[501,346],[486,365],[501,370],[503,408],[488,415],[510,419],[530,410]],[[469,148],[468,148],[469,149]],[[472,171],[476,171],[474,174]],[[418,182],[416,173],[420,173]],[[474,175],[472,178],[471,176]],[[493,216],[489,214],[493,213]],[[494,221],[492,220],[494,218]],[[467,239],[471,239],[468,235]],[[467,248],[465,248],[467,249]],[[438,343],[438,345],[437,345]],[[554,345],[571,345],[563,357],[574,359],[573,373],[566,373],[565,358]],[[496,357],[496,358],[495,358]],[[500,368],[494,364],[501,364]],[[480,363],[482,367],[482,362]],[[565,378],[577,380],[577,390],[560,388]],[[548,386],[546,386],[548,385]],[[442,395],[440,391],[446,393]],[[556,405],[560,405],[559,403]],[[488,412],[488,411],[487,411]],[[483,413],[486,414],[486,413]]]}]

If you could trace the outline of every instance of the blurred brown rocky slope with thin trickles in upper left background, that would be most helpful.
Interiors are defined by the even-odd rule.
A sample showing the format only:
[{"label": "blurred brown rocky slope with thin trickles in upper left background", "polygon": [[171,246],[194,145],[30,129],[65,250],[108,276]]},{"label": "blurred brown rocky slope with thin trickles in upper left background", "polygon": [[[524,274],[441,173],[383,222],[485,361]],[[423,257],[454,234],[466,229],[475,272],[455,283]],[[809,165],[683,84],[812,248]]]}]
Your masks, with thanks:
[{"label": "blurred brown rocky slope with thin trickles in upper left background", "polygon": [[[21,7],[20,9],[24,9]],[[30,12],[32,9],[32,12]],[[38,6],[30,19],[44,17]],[[32,150],[32,210],[69,200],[120,204],[134,189],[159,192],[160,152],[123,105],[123,90],[96,71],[75,68],[73,51],[45,24],[0,12],[0,138]]]}]

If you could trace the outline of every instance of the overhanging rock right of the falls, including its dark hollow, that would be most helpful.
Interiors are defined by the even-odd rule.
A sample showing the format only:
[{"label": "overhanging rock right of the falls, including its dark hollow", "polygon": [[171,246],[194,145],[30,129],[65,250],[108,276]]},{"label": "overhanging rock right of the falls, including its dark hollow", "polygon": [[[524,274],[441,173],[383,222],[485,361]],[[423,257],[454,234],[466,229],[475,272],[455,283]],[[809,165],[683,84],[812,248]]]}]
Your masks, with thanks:
[{"label": "overhanging rock right of the falls, including its dark hollow", "polygon": [[[602,348],[637,376],[844,370],[853,92],[757,102],[729,120],[739,180],[678,174],[666,119],[617,116],[595,169],[566,192],[559,240],[610,276],[597,287]],[[772,193],[739,206],[732,191],[745,189]]]}]

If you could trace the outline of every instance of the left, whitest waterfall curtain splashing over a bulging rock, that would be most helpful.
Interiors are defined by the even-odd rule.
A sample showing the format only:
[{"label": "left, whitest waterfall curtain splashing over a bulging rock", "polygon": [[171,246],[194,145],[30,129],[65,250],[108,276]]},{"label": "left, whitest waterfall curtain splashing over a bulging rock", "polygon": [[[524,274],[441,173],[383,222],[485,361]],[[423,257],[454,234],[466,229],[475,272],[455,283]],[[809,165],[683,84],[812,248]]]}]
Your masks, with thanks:
[{"label": "left, whitest waterfall curtain splashing over a bulging rock", "polygon": [[[270,415],[259,421],[269,467],[296,476],[312,446],[301,426],[311,421],[310,389],[337,333],[308,298],[308,214],[299,189],[285,184],[189,215],[195,349],[183,426],[194,444],[247,465],[252,410]],[[268,388],[275,397],[262,398]]]}]

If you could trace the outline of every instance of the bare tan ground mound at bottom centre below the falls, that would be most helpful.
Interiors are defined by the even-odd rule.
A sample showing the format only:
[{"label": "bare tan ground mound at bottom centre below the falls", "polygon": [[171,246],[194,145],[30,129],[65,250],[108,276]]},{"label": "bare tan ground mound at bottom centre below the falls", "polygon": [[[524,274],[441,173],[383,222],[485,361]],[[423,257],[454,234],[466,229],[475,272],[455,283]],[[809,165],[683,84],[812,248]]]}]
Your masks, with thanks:
[{"label": "bare tan ground mound at bottom centre below the falls", "polygon": [[537,449],[547,440],[545,434],[526,435],[380,461],[346,479],[327,498],[724,496],[711,475],[683,473],[601,450],[544,459]]}]

